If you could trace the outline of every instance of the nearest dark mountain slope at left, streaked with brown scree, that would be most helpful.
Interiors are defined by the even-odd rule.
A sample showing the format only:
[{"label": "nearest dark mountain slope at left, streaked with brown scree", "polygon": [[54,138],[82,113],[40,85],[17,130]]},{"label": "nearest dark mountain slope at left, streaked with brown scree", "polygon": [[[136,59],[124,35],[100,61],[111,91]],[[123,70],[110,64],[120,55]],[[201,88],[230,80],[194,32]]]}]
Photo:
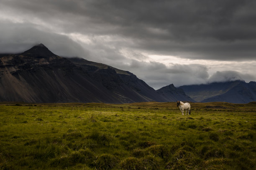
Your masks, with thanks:
[{"label": "nearest dark mountain slope at left, streaked with brown scree", "polygon": [[41,49],[0,58],[1,101],[118,102],[72,62],[47,50],[46,55]]}]

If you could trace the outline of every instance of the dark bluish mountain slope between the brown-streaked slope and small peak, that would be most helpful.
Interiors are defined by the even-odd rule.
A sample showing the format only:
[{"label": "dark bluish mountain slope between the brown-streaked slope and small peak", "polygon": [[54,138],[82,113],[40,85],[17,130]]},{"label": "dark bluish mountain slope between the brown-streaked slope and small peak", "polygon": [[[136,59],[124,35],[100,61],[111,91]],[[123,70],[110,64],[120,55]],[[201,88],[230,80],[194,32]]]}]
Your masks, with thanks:
[{"label": "dark bluish mountain slope between the brown-streaked slope and small peak", "polygon": [[69,58],[69,60],[81,67],[93,80],[109,91],[123,97],[126,102],[128,99],[131,100],[130,102],[165,101],[152,87],[131,72],[82,58]]}]

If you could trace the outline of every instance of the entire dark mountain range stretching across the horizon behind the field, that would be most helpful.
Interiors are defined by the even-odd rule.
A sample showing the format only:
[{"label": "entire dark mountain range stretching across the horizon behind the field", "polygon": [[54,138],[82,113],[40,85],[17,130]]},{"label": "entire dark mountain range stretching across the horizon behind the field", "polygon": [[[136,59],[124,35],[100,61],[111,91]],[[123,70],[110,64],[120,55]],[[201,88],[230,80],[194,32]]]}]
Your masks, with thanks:
[{"label": "entire dark mountain range stretching across the horizon behind the field", "polygon": [[232,102],[256,101],[256,82],[173,84],[154,90],[131,72],[64,58],[43,44],[20,54],[0,54],[0,102]]}]

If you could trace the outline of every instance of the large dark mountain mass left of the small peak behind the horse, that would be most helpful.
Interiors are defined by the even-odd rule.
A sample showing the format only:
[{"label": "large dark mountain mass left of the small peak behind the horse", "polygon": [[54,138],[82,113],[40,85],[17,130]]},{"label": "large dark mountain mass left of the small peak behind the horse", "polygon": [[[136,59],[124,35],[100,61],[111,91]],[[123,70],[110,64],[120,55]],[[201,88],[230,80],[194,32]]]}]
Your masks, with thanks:
[{"label": "large dark mountain mass left of the small peak behind the horse", "polygon": [[[170,94],[171,95],[171,94]],[[23,102],[167,102],[131,72],[64,58],[43,44],[20,54],[0,55],[0,101]]]}]

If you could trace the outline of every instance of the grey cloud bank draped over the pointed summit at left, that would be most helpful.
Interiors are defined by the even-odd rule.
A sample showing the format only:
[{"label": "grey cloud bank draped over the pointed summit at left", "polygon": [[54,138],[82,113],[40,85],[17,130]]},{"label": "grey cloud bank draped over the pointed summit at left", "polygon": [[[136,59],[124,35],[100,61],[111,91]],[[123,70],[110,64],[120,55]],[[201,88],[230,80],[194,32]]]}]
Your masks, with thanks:
[{"label": "grey cloud bank draped over the pointed summit at left", "polygon": [[43,43],[56,55],[86,56],[89,52],[65,35],[38,30],[33,25],[0,22],[0,53],[19,53]]}]

